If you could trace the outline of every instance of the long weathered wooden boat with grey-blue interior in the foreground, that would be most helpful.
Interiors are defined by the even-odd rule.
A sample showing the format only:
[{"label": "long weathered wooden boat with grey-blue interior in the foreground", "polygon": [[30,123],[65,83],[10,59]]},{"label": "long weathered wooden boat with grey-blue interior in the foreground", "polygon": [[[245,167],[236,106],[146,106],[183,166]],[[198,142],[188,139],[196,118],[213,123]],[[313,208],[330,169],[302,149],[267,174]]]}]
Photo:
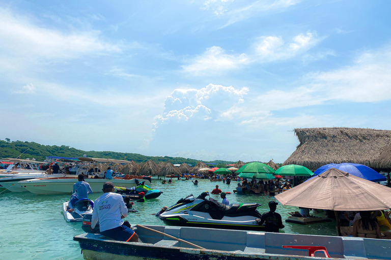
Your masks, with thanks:
[{"label": "long weathered wooden boat with grey-blue interior in the foreground", "polygon": [[[135,225],[132,225],[135,226]],[[335,258],[389,259],[391,240],[219,230],[180,226],[146,225],[147,228],[171,235],[176,241],[144,228],[136,233],[144,243],[110,240],[100,234],[85,233],[73,239],[79,242],[85,259],[318,259],[324,252],[309,256],[309,250],[283,246],[324,246]],[[203,249],[195,248],[193,243]]]}]

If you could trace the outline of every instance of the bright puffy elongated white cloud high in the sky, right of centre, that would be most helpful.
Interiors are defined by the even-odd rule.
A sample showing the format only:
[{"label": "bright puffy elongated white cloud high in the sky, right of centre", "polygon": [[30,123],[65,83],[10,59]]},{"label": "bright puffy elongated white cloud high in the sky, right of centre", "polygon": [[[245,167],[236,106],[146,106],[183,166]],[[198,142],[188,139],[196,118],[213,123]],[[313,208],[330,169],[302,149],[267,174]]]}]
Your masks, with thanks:
[{"label": "bright puffy elongated white cloud high in the sky, right of centre", "polygon": [[183,71],[193,76],[218,74],[232,71],[250,63],[264,63],[293,58],[317,45],[323,38],[318,38],[316,32],[307,32],[293,37],[292,42],[285,44],[282,37],[259,37],[252,45],[252,50],[246,54],[226,54],[218,46],[207,48],[206,51],[183,65]]}]

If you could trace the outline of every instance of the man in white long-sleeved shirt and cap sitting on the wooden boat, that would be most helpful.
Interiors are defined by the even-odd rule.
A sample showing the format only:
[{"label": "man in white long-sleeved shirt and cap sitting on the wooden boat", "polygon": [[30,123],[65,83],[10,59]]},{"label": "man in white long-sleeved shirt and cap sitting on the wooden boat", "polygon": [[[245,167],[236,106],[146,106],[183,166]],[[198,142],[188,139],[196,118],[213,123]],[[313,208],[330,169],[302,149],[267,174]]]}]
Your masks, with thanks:
[{"label": "man in white long-sleeved shirt and cap sitting on the wooden boat", "polygon": [[95,228],[99,220],[99,230],[103,236],[117,241],[137,242],[138,236],[127,226],[123,225],[123,217],[128,214],[121,194],[113,193],[113,182],[103,184],[103,195],[95,200],[94,212],[92,213],[91,229]]}]

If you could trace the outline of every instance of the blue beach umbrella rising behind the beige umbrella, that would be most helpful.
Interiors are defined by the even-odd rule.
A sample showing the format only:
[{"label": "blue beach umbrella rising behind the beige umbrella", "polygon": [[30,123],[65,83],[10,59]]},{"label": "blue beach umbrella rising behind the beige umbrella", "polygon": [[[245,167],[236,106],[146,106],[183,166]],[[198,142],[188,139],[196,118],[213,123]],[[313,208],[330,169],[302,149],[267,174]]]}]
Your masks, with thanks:
[{"label": "blue beach umbrella rising behind the beige umbrella", "polygon": [[[321,169],[322,168],[322,169]],[[330,168],[336,168],[338,170],[341,170],[343,172],[347,172],[351,175],[360,177],[362,179],[366,179],[369,181],[385,181],[387,180],[383,175],[379,174],[375,170],[369,168],[368,166],[365,165],[359,165],[359,164],[350,164],[350,163],[342,163],[342,164],[328,164],[324,165],[320,168],[318,168],[315,172],[314,175],[319,175],[325,171],[327,171]]]}]

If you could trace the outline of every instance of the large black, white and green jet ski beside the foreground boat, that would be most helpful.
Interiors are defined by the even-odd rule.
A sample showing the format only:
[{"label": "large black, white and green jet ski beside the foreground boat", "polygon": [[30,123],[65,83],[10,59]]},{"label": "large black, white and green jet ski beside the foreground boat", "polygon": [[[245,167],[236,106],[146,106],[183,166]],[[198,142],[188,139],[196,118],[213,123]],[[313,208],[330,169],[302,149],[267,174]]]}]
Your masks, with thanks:
[{"label": "large black, white and green jet ski beside the foreground boat", "polygon": [[204,228],[237,229],[237,230],[264,230],[265,226],[257,224],[256,218],[261,218],[257,207],[259,203],[237,203],[225,205],[216,200],[205,197],[209,192],[202,192],[194,199],[190,194],[180,199],[159,218],[168,225],[200,226]]}]

